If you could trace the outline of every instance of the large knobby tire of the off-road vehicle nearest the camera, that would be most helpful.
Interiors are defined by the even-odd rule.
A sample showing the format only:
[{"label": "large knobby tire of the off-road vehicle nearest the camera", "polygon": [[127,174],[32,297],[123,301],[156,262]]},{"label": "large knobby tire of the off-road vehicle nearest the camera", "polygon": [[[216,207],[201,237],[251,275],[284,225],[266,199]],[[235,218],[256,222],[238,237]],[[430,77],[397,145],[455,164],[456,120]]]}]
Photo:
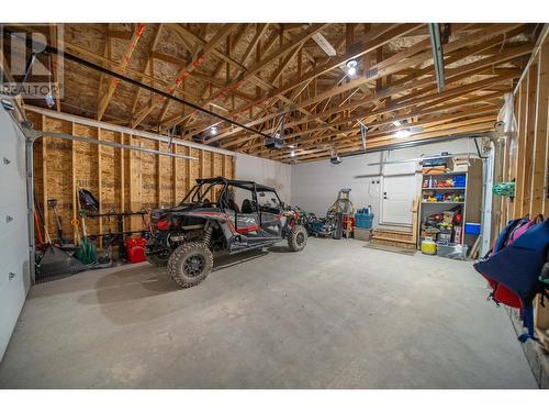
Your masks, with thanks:
[{"label": "large knobby tire of the off-road vehicle nearest the camera", "polygon": [[168,259],[168,274],[180,288],[200,283],[212,267],[212,252],[200,242],[183,243]]}]

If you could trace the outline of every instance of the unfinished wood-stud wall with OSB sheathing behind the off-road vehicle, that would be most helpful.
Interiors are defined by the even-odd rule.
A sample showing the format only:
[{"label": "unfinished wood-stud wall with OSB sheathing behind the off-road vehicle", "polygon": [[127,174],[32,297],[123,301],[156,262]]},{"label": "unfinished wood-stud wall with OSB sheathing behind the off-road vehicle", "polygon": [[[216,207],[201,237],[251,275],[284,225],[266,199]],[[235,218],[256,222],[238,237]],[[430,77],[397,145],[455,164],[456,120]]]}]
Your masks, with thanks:
[{"label": "unfinished wood-stud wall with OSB sheathing behind the off-road vehicle", "polygon": [[[57,223],[47,201],[57,200],[65,237],[74,238],[70,222],[78,219],[78,189],[86,188],[99,200],[100,212],[149,211],[171,207],[181,201],[199,177],[234,177],[233,156],[199,151],[182,145],[155,142],[137,135],[100,129],[72,121],[27,112],[38,131],[68,133],[75,136],[124,143],[181,155],[194,155],[200,160],[154,155],[132,149],[92,145],[83,142],[38,138],[34,146],[35,198],[44,213],[52,237]],[[116,232],[114,219],[88,219],[89,234]],[[126,218],[124,230],[143,227],[139,216]],[[98,242],[98,245],[100,243]]]}]

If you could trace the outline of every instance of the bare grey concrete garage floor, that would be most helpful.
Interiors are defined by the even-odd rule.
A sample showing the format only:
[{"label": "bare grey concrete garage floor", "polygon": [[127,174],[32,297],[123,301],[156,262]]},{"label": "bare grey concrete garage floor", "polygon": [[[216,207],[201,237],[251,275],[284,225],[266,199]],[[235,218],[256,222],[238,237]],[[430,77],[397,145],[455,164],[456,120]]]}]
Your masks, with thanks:
[{"label": "bare grey concrete garage floor", "polygon": [[148,264],[38,285],[0,387],[537,387],[470,263],[362,245],[280,244],[187,290]]}]

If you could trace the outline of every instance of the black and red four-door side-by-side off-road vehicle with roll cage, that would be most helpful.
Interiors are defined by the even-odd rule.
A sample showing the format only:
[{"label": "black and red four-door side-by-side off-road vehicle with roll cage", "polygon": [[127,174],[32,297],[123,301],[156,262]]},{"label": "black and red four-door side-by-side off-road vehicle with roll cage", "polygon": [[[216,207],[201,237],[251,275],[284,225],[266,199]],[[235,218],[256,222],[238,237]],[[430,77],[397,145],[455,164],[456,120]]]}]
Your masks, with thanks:
[{"label": "black and red four-door side-by-side off-road vehicle with roll cage", "polygon": [[296,224],[298,218],[268,186],[223,177],[197,179],[179,205],[152,211],[145,254],[149,263],[167,265],[171,279],[189,288],[210,274],[214,253],[236,254],[283,240],[291,250],[302,250],[307,232]]}]

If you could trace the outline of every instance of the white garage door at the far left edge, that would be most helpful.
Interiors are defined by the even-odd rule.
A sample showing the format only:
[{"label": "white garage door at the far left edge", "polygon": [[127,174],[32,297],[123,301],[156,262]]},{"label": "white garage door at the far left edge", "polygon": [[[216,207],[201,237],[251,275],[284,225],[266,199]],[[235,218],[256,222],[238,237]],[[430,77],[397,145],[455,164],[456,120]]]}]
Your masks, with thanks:
[{"label": "white garage door at the far left edge", "polygon": [[0,107],[0,359],[30,287],[24,136]]}]

